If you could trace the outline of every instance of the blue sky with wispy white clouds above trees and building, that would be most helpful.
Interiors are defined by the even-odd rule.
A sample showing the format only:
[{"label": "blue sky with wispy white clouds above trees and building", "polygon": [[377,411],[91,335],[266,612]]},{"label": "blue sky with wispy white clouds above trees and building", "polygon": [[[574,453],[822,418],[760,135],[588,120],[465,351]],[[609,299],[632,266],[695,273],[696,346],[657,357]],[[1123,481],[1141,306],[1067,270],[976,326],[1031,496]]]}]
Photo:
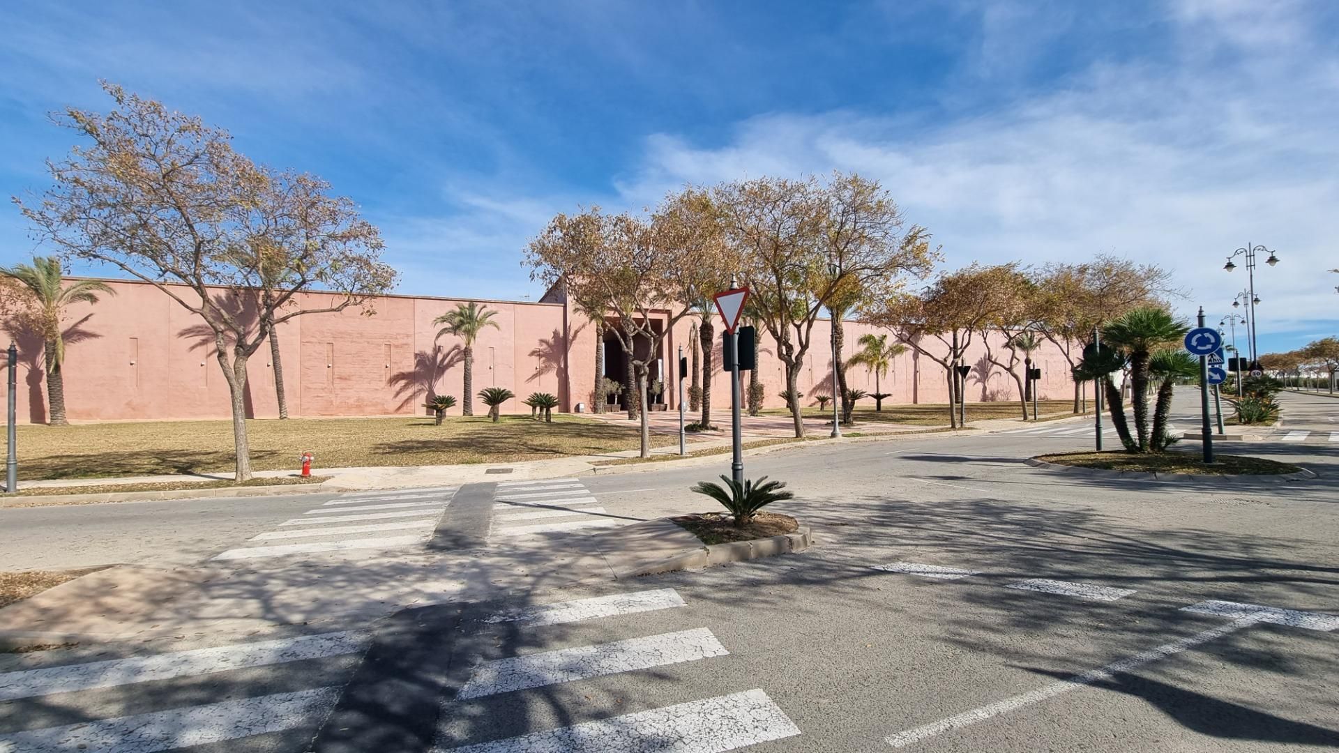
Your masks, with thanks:
[{"label": "blue sky with wispy white clouds above trees and building", "polygon": [[[537,296],[556,212],[684,182],[878,178],[947,265],[1109,252],[1213,320],[1261,267],[1261,350],[1339,332],[1339,4],[5,3],[0,192],[106,78],[353,197],[400,291]],[[0,264],[33,251],[0,210]]]}]

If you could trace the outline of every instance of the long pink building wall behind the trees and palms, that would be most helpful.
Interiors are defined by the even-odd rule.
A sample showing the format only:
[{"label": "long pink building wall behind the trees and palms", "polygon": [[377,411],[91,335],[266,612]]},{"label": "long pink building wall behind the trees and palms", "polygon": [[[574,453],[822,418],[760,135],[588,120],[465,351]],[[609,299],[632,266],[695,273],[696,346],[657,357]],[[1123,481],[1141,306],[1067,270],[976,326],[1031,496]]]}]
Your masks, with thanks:
[{"label": "long pink building wall behind the trees and palms", "polygon": [[[197,316],[147,283],[106,280],[115,296],[68,312],[66,335],[66,405],[71,421],[131,421],[228,418],[228,385],[214,359],[213,336]],[[189,295],[187,288],[182,288]],[[304,293],[297,305],[319,308],[325,293]],[[553,300],[557,297],[558,300]],[[398,296],[378,297],[372,315],[358,308],[340,314],[299,316],[279,328],[289,415],[363,417],[420,415],[428,393],[461,398],[459,340],[437,338],[432,320],[467,299]],[[474,346],[474,389],[507,387],[518,395],[503,406],[507,413],[529,413],[521,399],[534,391],[552,393],[561,410],[589,411],[596,374],[595,327],[561,296],[545,301],[481,301],[497,311],[498,328],[486,328]],[[660,315],[661,323],[668,315]],[[615,322],[611,319],[611,324]],[[684,319],[661,342],[660,363],[652,378],[676,371],[679,347],[687,356],[694,346],[694,320]],[[730,382],[720,366],[720,327],[716,323],[712,405],[730,403]],[[857,350],[856,340],[876,331],[848,323],[842,358]],[[799,391],[805,405],[817,394],[832,394],[830,323],[818,322],[805,355]],[[42,343],[24,332],[11,332],[19,344],[19,421],[46,422],[46,375]],[[766,405],[782,406],[781,362],[771,355],[765,332],[759,375]],[[604,372],[625,382],[624,355],[617,339],[605,335]],[[254,418],[279,414],[274,399],[269,344],[252,356],[246,406]],[[1050,344],[1032,354],[1042,368],[1039,395],[1073,395],[1069,364]],[[1014,379],[984,360],[984,347],[973,343],[967,358],[968,401],[1018,399]],[[874,391],[874,376],[862,367],[848,371],[849,385]],[[676,409],[678,393],[667,381],[665,402]],[[889,403],[947,402],[944,370],[928,358],[908,352],[881,381]],[[453,413],[458,413],[455,409]],[[482,413],[481,410],[477,413]]]}]

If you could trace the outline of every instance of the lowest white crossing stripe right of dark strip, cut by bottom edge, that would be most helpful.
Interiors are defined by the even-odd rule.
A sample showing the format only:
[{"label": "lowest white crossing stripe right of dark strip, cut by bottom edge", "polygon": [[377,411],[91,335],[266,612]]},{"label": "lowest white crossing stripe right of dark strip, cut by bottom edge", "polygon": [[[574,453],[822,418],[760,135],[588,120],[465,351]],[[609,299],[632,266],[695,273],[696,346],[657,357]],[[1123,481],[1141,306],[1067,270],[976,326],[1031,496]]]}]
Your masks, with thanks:
[{"label": "lowest white crossing stripe right of dark strip, cut by bottom edge", "polygon": [[799,734],[762,690],[432,753],[724,753]]}]

